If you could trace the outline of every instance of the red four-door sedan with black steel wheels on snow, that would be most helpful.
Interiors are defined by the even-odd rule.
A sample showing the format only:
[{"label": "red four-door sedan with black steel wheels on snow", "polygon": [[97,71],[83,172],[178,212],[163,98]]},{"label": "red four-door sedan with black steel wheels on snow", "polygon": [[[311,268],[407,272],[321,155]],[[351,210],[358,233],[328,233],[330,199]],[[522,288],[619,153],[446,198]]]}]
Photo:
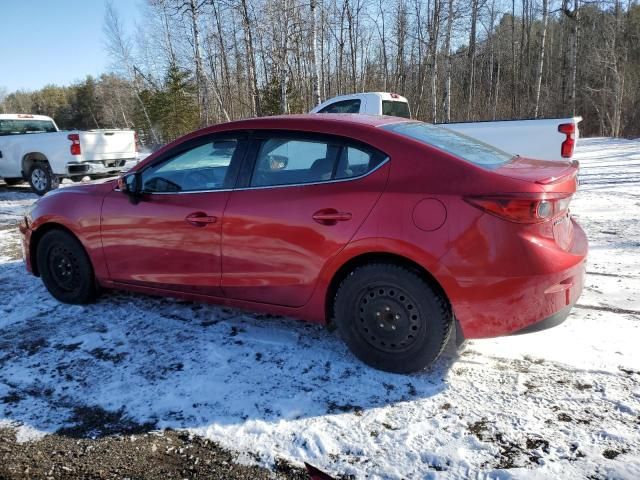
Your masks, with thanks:
[{"label": "red four-door sedan with black steel wheels on snow", "polygon": [[62,302],[103,287],[298,317],[412,372],[453,328],[492,337],[568,315],[587,255],[576,174],[406,119],[260,118],[50,192],[21,230],[27,269]]}]

